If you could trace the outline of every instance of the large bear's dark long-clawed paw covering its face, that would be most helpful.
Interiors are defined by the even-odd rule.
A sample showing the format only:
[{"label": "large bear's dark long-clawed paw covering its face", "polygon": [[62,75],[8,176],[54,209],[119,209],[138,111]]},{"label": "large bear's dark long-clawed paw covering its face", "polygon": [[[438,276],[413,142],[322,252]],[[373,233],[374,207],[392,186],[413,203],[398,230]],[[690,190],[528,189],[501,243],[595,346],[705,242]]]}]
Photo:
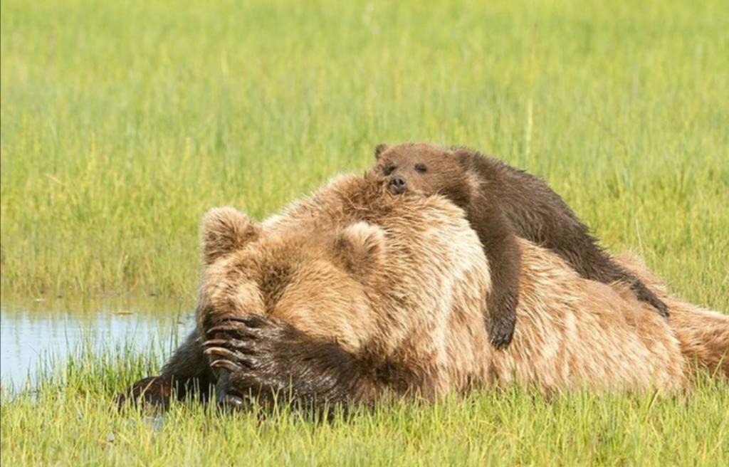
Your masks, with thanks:
[{"label": "large bear's dark long-clawed paw covering its face", "polygon": [[207,334],[213,337],[203,344],[210,366],[222,372],[219,404],[243,408],[247,399],[270,401],[286,391],[292,362],[284,361],[281,349],[293,344],[289,324],[250,315],[229,318]]}]

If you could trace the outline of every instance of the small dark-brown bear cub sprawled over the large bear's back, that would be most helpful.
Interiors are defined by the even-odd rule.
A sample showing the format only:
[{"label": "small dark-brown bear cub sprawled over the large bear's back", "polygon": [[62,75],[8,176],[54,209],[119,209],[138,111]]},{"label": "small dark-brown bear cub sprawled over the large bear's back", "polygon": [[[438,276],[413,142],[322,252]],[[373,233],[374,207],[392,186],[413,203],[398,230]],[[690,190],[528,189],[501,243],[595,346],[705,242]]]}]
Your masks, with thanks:
[{"label": "small dark-brown bear cub sprawled over the large bear's back", "polygon": [[588,227],[541,178],[469,149],[424,143],[375,149],[375,172],[389,192],[440,194],[464,209],[491,265],[486,299],[488,335],[502,348],[512,340],[519,297],[520,251],[515,237],[553,250],[582,277],[628,283],[636,297],[668,317],[666,305],[635,275],[620,267],[597,244]]}]

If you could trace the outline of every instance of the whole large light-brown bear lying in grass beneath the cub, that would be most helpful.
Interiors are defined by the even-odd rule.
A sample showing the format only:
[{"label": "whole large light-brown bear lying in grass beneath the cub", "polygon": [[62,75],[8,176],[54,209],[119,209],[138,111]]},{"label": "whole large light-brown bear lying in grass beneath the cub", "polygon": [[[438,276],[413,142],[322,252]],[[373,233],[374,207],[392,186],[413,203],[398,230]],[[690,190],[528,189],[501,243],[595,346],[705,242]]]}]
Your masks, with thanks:
[{"label": "whole large light-brown bear lying in grass beneath the cub", "polygon": [[[208,235],[225,225],[251,235]],[[276,397],[321,407],[511,382],[545,393],[670,392],[690,382],[690,361],[727,373],[729,316],[651,283],[677,310],[666,321],[628,286],[582,278],[552,251],[517,241],[520,326],[495,350],[483,326],[487,258],[445,197],[394,196],[375,176],[341,176],[260,225],[211,211],[197,329],[130,395],[149,388],[144,398],[160,403],[171,384],[214,382],[218,401],[235,407]]]}]

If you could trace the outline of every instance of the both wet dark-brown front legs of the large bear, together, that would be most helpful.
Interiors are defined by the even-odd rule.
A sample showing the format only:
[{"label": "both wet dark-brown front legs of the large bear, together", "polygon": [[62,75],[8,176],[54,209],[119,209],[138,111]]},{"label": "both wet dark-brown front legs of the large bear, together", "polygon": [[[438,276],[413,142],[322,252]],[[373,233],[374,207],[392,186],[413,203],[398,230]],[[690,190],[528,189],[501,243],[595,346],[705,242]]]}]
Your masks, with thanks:
[{"label": "both wet dark-brown front legs of the large bear, together", "polygon": [[141,402],[165,409],[171,399],[192,397],[226,409],[291,404],[328,415],[352,403],[371,405],[383,391],[402,396],[416,386],[408,369],[362,361],[273,318],[227,318],[206,334],[211,338],[202,343],[198,331],[190,334],[160,376],[139,380],[117,397],[119,407]]}]

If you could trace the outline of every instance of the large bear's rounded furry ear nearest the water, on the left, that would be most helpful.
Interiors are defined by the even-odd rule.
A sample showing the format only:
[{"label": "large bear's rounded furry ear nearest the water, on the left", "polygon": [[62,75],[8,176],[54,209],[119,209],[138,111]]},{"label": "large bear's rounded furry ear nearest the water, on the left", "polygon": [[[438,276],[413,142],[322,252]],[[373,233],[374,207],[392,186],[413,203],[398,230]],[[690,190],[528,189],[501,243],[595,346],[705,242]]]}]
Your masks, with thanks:
[{"label": "large bear's rounded furry ear nearest the water, on the left", "polygon": [[260,235],[260,227],[241,211],[226,206],[213,208],[203,216],[203,262],[212,264],[220,256],[243,248]]}]

